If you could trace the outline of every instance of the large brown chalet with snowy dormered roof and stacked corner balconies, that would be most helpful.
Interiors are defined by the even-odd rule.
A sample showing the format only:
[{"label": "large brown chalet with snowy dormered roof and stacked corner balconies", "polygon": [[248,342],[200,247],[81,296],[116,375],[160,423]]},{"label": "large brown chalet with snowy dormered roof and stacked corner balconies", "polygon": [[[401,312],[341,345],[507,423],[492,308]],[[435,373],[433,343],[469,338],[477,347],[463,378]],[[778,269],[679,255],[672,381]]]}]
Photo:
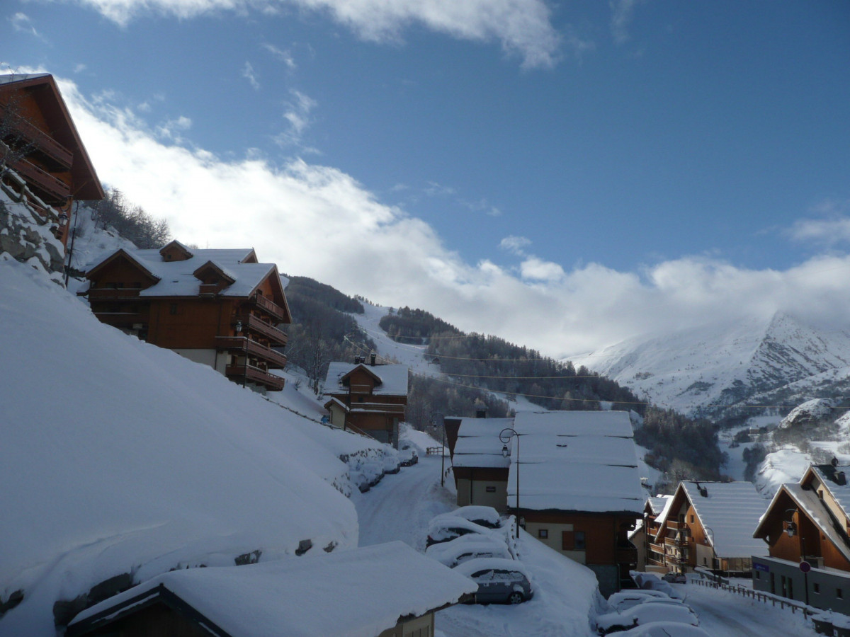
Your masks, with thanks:
[{"label": "large brown chalet with snowy dormered roof and stacked corner balconies", "polygon": [[200,250],[172,241],[161,250],[118,250],[86,272],[101,321],[207,364],[252,389],[283,389],[292,322],[277,266],[251,248]]}]

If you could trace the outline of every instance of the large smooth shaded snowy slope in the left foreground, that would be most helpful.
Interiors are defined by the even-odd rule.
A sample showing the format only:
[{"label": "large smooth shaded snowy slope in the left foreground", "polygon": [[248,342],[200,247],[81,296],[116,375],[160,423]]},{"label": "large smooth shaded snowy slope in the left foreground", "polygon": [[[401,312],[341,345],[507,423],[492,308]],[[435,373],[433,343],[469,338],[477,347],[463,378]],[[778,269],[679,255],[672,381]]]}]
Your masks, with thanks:
[{"label": "large smooth shaded snowy slope in the left foreground", "polygon": [[338,456],[384,446],[100,324],[8,260],[0,352],[0,599],[24,591],[0,635],[54,635],[55,600],[124,572],[357,544]]}]

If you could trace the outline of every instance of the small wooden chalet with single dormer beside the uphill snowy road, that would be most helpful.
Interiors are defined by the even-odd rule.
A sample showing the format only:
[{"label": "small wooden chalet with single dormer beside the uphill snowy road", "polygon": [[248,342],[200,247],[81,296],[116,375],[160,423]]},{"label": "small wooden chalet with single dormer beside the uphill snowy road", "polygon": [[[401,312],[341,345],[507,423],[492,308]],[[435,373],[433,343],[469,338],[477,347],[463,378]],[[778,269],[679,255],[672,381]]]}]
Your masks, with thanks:
[{"label": "small wooden chalet with single dormer beside the uphill snowy road", "polygon": [[407,366],[369,363],[355,358],[354,364],[334,362],[325,378],[325,409],[331,425],[351,429],[388,443],[399,444],[399,422],[407,406]]}]

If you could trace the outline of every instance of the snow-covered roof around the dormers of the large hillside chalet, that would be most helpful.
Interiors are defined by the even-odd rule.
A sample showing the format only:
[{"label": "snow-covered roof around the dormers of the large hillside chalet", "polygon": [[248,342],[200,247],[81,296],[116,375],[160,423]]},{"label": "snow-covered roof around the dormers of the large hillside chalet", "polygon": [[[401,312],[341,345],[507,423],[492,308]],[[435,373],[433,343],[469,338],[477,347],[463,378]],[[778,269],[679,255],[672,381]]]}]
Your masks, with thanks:
[{"label": "snow-covered roof around the dormers of the large hillside chalet", "polygon": [[[218,292],[220,296],[250,296],[263,279],[276,268],[274,263],[243,263],[253,254],[252,248],[193,249],[190,258],[173,261],[164,260],[158,249],[125,250],[125,252],[140,267],[159,279],[154,285],[142,290],[139,296],[197,296],[200,292],[201,280],[195,277],[195,271],[207,265],[207,262],[212,262],[215,267],[235,281]],[[97,257],[88,264],[87,273],[115,254],[116,252],[113,251]]]}]

